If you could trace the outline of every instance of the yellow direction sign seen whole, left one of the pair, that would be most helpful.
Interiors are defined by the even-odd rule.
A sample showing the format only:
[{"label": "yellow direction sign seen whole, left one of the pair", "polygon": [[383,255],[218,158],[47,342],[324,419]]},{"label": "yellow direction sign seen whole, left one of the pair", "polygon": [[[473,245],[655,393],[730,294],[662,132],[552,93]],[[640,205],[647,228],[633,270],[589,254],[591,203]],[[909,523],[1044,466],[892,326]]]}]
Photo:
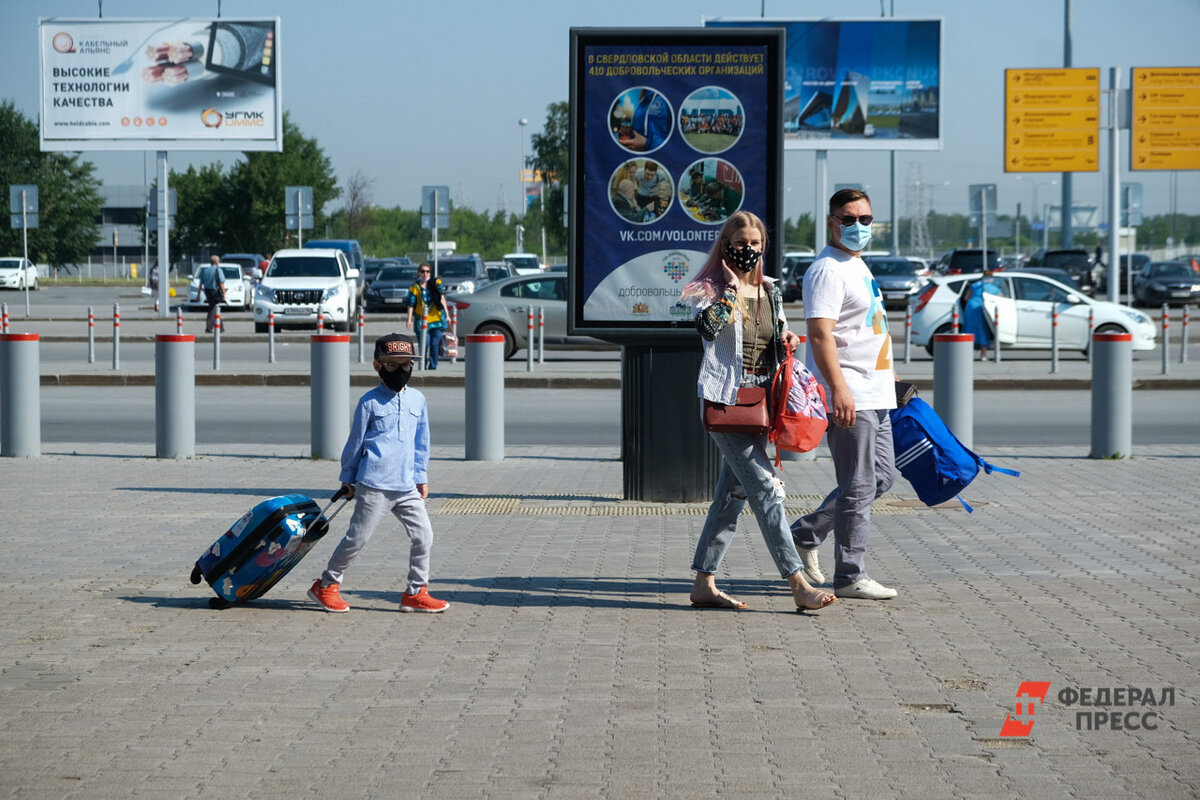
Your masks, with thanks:
[{"label": "yellow direction sign seen whole, left one of the pair", "polygon": [[1100,168],[1100,71],[1004,71],[1004,172]]}]

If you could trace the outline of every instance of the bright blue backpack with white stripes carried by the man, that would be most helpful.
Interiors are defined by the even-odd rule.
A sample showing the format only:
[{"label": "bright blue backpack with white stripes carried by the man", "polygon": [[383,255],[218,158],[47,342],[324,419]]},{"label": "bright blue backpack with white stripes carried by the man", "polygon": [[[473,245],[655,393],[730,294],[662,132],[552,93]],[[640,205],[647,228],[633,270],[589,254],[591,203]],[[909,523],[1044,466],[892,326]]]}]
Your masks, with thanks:
[{"label": "bright blue backpack with white stripes carried by the man", "polygon": [[[896,469],[929,506],[958,498],[959,492],[979,474],[980,467],[989,475],[1020,475],[1013,469],[994,467],[967,450],[946,427],[942,417],[919,397],[892,410],[892,441]],[[962,498],[959,503],[967,513],[973,511]]]}]

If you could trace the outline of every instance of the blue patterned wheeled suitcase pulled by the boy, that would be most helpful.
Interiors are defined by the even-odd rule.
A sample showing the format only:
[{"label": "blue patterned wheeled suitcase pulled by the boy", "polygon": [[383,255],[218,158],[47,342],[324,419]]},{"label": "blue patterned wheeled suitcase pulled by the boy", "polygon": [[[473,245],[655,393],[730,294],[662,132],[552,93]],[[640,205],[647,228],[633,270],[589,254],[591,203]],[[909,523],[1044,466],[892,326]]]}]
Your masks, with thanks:
[{"label": "blue patterned wheeled suitcase pulled by the boy", "polygon": [[304,494],[263,500],[204,551],[192,569],[192,583],[203,578],[212,587],[214,608],[262,597],[329,533],[329,522],[346,501],[329,517],[325,512],[342,495],[338,489],[324,509]]}]

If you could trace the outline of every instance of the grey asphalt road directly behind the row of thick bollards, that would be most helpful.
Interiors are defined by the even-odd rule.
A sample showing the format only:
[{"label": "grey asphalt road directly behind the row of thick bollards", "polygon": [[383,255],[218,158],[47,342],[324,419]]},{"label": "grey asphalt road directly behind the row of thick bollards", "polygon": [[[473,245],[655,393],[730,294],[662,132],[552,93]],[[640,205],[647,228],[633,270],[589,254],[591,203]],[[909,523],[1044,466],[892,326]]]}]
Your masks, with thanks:
[{"label": "grey asphalt road directly behind the row of thick bollards", "polygon": [[[352,408],[362,393],[352,389]],[[428,387],[434,446],[464,441],[462,389]],[[43,386],[42,441],[155,441],[155,393],[146,387]],[[199,386],[196,440],[200,445],[312,441],[307,387]],[[512,445],[619,445],[620,391],[508,389],[505,443]],[[1138,391],[1133,396],[1134,445],[1200,444],[1200,391]],[[1079,445],[1091,443],[1087,391],[980,391],[974,444]]]}]

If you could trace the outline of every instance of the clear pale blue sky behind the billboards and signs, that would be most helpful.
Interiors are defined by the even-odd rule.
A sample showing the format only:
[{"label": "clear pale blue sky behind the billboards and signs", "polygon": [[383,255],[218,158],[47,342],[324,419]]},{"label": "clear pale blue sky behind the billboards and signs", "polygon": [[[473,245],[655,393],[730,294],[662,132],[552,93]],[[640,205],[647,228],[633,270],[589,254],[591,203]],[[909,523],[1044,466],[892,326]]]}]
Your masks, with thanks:
[{"label": "clear pale blue sky behind the billboards and signs", "polygon": [[[937,211],[965,212],[971,184],[996,184],[1002,212],[1058,201],[1057,175],[1016,178],[1002,169],[1004,70],[1058,67],[1063,58],[1062,0],[103,0],[106,18],[280,17],[283,104],[305,134],[316,137],[340,181],[356,170],[373,179],[372,199],[415,209],[420,187],[445,185],[456,203],[479,210],[518,209],[517,169],[528,137],[546,108],[569,95],[572,26],[694,26],[701,17],[875,19],[881,2],[898,18],[943,20],[941,151],[899,152],[898,205],[919,174]],[[30,118],[38,104],[37,18],[95,18],[97,0],[2,0],[0,96]],[[1073,64],[1109,67],[1128,80],[1132,66],[1200,66],[1200,0],[1073,0]],[[521,119],[528,119],[526,127]],[[1108,164],[1106,136],[1102,163]],[[1123,145],[1127,154],[1128,140]],[[142,184],[154,154],[86,152],[107,184]],[[173,152],[173,168],[191,161],[229,163],[236,154]],[[1171,207],[1168,173],[1127,172],[1144,186],[1146,213]],[[829,184],[863,184],[875,212],[890,216],[886,152],[838,152]],[[815,156],[784,158],[785,216],[811,211]],[[1102,204],[1105,173],[1075,174],[1075,203]],[[1200,213],[1200,172],[1177,174],[1177,210]],[[926,196],[929,197],[929,196]]]}]

